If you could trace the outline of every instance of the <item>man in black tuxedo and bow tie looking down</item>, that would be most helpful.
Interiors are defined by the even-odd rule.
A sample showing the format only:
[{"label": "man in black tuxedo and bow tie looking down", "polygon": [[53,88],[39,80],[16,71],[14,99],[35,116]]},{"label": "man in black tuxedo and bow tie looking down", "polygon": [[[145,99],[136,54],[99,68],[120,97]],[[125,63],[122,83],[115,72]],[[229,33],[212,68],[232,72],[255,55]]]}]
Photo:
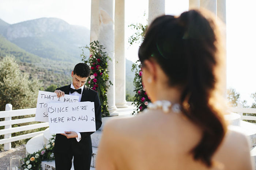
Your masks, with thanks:
[{"label": "man in black tuxedo and bow tie looking down", "polygon": [[[98,93],[84,83],[90,76],[90,67],[85,63],[78,63],[71,72],[72,83],[57,88],[54,91],[58,97],[64,94],[79,96],[79,102],[94,102],[96,130],[101,127],[101,103]],[[54,157],[56,170],[70,170],[74,156],[75,170],[90,170],[91,165],[91,134],[94,132],[65,131],[56,134]]]}]

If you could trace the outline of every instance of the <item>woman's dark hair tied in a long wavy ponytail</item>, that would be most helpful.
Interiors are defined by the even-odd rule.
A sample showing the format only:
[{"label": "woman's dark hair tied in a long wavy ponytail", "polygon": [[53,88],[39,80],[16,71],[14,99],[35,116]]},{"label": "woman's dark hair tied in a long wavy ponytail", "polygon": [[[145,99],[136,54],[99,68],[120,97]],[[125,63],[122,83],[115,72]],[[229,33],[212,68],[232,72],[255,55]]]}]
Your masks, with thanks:
[{"label": "woman's dark hair tied in a long wavy ponytail", "polygon": [[203,132],[192,154],[208,167],[226,131],[223,117],[210,102],[218,77],[218,35],[213,20],[199,11],[153,21],[139,49],[139,59],[153,56],[169,77],[170,86],[182,89],[182,112]]}]

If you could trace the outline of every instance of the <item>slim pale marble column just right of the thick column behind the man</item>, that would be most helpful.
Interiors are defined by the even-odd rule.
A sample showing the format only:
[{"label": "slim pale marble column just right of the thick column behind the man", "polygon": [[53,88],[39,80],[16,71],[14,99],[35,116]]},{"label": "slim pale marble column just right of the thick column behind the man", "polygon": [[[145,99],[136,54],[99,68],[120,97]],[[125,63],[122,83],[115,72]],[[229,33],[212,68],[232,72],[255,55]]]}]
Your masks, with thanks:
[{"label": "slim pale marble column just right of the thick column behind the man", "polygon": [[115,78],[116,78],[116,107],[128,107],[125,100],[125,49],[124,49],[124,1],[115,2]]}]

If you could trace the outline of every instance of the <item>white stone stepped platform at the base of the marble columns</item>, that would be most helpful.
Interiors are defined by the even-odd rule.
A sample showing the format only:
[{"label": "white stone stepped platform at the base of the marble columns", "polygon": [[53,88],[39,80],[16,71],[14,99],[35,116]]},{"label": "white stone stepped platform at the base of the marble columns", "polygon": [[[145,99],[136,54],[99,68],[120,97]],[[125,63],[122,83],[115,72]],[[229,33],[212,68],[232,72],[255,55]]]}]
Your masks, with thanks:
[{"label": "white stone stepped platform at the base of the marble columns", "polygon": [[[97,130],[95,133],[91,135],[92,140],[92,146],[93,146],[93,154],[92,154],[92,160],[91,160],[91,170],[94,170],[95,168],[95,161],[96,161],[96,155],[98,151],[98,145],[99,141],[101,139],[102,130],[104,128],[104,125],[106,122],[108,122],[110,119],[116,119],[116,118],[125,118],[125,117],[131,117],[134,107],[131,106],[131,102],[128,103],[127,108],[118,108],[118,116],[112,116],[112,117],[104,117],[102,118],[102,126],[99,130]],[[244,133],[248,136],[250,140],[250,144],[252,147],[251,150],[251,156],[253,160],[255,161],[256,165],[256,125],[244,121],[240,121],[240,115],[236,113],[231,113],[230,115],[226,115],[225,119],[229,121],[229,123],[233,126],[240,126]],[[31,138],[26,145],[26,153],[33,153],[35,151],[38,151],[42,149],[43,145],[48,142],[48,139],[52,135],[49,134],[49,129],[46,129],[44,131],[44,134],[40,134],[35,136],[34,138]],[[43,161],[42,162],[42,169],[43,170],[54,170],[55,164],[54,161]],[[74,167],[72,165],[72,169],[74,170]]]}]

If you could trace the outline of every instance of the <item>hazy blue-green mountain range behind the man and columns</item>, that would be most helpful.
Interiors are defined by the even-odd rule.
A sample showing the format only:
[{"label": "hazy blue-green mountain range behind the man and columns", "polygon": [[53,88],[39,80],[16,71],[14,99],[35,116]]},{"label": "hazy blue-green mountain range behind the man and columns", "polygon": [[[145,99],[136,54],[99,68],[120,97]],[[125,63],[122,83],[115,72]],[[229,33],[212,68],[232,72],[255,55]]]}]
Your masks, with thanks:
[{"label": "hazy blue-green mountain range behind the man and columns", "polygon": [[[64,82],[71,80],[70,71],[74,64],[81,62],[82,50],[79,47],[89,45],[89,42],[89,29],[70,25],[58,18],[39,18],[16,24],[8,24],[0,19],[0,56],[13,55],[18,62],[29,63],[22,64],[23,66],[41,69],[41,74],[47,70],[60,74],[57,77],[64,74],[67,79]],[[89,51],[85,52],[89,55]],[[126,60],[128,94],[133,93],[134,73],[131,72],[131,66],[132,62]],[[30,73],[31,77],[41,78],[35,74]],[[42,82],[46,87],[49,83],[54,83],[54,77],[52,81],[42,79]]]}]

